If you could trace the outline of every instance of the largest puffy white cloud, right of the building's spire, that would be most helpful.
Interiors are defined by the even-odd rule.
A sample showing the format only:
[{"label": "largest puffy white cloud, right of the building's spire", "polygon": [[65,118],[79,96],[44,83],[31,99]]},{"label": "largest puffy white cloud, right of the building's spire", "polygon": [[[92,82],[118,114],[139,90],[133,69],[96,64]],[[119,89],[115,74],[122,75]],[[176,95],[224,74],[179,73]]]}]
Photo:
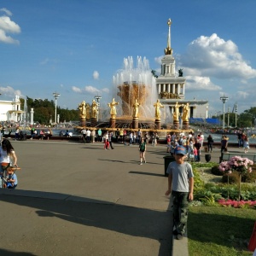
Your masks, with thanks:
[{"label": "largest puffy white cloud, right of the building's spire", "polygon": [[199,76],[218,79],[256,78],[256,70],[242,59],[236,44],[230,40],[224,41],[215,33],[210,37],[196,38],[184,55],[177,56],[177,61],[186,71],[189,68],[188,71]]}]

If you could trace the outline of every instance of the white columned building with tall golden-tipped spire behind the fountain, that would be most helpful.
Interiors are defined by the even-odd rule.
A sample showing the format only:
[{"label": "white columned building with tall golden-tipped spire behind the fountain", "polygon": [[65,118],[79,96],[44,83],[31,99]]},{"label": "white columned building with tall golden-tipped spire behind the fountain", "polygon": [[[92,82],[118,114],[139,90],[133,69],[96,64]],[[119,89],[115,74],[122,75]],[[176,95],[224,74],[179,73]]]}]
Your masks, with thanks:
[{"label": "white columned building with tall golden-tipped spire behind the fountain", "polygon": [[[165,49],[165,56],[161,60],[161,73],[155,79],[156,90],[160,103],[169,107],[166,109],[166,115],[172,119],[175,104],[185,105],[189,103],[189,118],[208,118],[208,101],[201,100],[185,100],[185,84],[186,79],[183,77],[183,69],[179,69],[176,73],[175,59],[172,56],[173,49],[171,48],[171,24],[172,20],[167,22],[169,26],[169,33],[167,38],[167,47]],[[183,108],[180,108],[180,112]]]}]

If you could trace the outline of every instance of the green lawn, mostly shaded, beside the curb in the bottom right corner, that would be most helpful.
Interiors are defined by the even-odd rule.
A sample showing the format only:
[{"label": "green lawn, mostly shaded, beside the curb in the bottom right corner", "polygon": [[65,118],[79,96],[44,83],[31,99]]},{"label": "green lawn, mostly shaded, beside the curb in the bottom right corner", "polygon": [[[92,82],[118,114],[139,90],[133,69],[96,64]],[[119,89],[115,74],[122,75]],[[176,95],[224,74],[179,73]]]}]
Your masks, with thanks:
[{"label": "green lawn, mostly shaded, beside the curb in the bottom right corner", "polygon": [[189,207],[189,256],[251,256],[255,215],[253,209]]}]

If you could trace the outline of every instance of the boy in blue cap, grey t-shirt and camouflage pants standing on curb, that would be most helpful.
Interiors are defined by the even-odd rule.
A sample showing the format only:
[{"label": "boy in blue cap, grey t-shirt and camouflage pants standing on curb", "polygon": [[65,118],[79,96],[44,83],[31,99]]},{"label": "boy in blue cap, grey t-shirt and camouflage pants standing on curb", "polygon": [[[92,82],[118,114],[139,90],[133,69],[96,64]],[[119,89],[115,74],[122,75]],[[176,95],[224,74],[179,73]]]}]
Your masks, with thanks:
[{"label": "boy in blue cap, grey t-shirt and camouflage pants standing on curb", "polygon": [[177,146],[174,157],[175,161],[169,164],[166,171],[169,173],[166,195],[172,191],[173,223],[176,228],[173,235],[181,240],[186,232],[189,201],[193,201],[194,174],[192,166],[184,161],[187,157],[186,148]]}]

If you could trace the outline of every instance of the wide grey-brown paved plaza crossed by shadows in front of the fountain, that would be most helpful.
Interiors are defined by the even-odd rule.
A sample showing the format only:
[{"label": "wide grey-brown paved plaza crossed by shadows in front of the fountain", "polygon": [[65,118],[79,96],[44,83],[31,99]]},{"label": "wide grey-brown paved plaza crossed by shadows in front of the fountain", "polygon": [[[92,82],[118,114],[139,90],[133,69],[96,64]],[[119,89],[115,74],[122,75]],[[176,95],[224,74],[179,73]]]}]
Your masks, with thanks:
[{"label": "wide grey-brown paved plaza crossed by shadows in front of the fountain", "polygon": [[17,189],[0,189],[1,255],[187,255],[186,238],[172,248],[164,145],[140,166],[136,145],[12,143],[21,171]]}]

